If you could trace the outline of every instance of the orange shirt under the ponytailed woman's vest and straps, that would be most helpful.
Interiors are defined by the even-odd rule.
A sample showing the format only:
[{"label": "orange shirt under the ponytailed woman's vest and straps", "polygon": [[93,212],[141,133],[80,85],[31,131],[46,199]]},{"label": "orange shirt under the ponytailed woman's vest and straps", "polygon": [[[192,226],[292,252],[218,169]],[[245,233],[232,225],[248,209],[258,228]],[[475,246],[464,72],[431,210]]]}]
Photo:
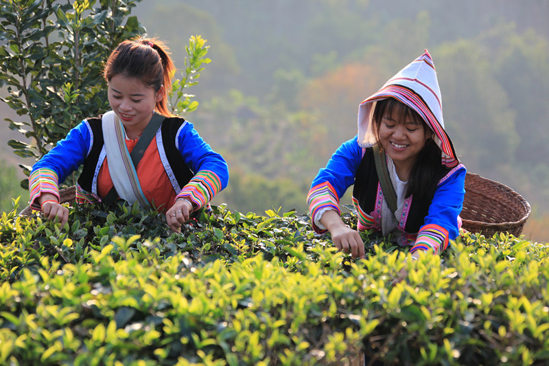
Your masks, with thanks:
[{"label": "orange shirt under the ponytailed woman's vest and straps", "polygon": [[[132,152],[137,139],[126,139],[128,151]],[[151,141],[147,150],[143,154],[141,161],[137,164],[137,178],[141,185],[143,194],[150,203],[157,207],[159,212],[165,212],[174,204],[174,199],[179,192],[174,191],[174,186],[164,170],[164,165],[160,159],[158,147],[156,146],[156,137]],[[104,197],[113,187],[113,180],[108,171],[108,161],[105,158],[99,175],[97,176],[97,194]]]}]

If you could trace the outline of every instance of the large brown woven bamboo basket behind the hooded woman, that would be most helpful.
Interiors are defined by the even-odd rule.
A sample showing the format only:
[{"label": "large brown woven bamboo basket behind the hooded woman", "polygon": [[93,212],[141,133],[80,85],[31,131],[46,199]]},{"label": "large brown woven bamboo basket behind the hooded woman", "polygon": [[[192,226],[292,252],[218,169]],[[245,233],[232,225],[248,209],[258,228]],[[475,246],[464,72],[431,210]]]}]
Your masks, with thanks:
[{"label": "large brown woven bamboo basket behind the hooded woman", "polygon": [[502,183],[467,173],[460,214],[463,229],[484,236],[500,231],[519,236],[528,216],[530,204],[520,194]]}]

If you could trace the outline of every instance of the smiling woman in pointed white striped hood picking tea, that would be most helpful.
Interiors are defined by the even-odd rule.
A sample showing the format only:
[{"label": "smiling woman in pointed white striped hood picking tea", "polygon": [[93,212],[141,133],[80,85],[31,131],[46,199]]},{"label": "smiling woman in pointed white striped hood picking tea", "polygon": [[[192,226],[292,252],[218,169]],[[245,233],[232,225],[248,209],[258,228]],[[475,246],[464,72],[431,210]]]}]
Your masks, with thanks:
[{"label": "smiling woman in pointed white striped hood picking tea", "polygon": [[373,229],[418,253],[440,253],[459,233],[465,166],[444,130],[439,82],[428,52],[404,67],[358,110],[358,135],[318,172],[307,196],[313,227],[364,256],[344,225],[339,199],[351,185],[358,230]]}]

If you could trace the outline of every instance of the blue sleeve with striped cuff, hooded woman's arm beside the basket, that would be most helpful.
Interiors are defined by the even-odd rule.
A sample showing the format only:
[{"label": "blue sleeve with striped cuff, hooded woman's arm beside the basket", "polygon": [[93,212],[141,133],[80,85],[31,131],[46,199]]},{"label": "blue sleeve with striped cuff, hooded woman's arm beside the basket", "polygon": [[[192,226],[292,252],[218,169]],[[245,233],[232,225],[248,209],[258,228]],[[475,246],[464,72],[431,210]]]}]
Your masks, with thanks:
[{"label": "blue sleeve with striped cuff, hooded woman's arm beside the basket", "polygon": [[439,181],[425,225],[419,229],[411,253],[423,250],[439,254],[448,247],[449,240],[458,237],[466,173],[465,166],[459,164]]}]

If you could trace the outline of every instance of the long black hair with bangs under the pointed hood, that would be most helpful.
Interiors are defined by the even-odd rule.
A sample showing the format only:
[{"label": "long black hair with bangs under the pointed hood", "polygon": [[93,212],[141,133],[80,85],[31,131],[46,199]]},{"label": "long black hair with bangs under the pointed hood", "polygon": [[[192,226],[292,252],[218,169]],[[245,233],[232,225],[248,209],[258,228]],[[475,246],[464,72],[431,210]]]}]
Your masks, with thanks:
[{"label": "long black hair with bangs under the pointed hood", "polygon": [[382,118],[386,115],[393,115],[393,113],[399,116],[399,121],[412,119],[412,121],[423,126],[423,130],[425,131],[425,146],[419,152],[410,172],[406,187],[406,198],[412,194],[414,197],[420,199],[428,198],[429,192],[432,192],[432,186],[438,183],[436,181],[436,173],[442,167],[442,151],[436,145],[434,139],[432,139],[433,132],[425,121],[423,121],[423,118],[412,108],[395,98],[380,100],[375,104],[372,115],[372,130],[379,148],[382,148],[381,137],[379,135],[379,126],[381,126]]}]

